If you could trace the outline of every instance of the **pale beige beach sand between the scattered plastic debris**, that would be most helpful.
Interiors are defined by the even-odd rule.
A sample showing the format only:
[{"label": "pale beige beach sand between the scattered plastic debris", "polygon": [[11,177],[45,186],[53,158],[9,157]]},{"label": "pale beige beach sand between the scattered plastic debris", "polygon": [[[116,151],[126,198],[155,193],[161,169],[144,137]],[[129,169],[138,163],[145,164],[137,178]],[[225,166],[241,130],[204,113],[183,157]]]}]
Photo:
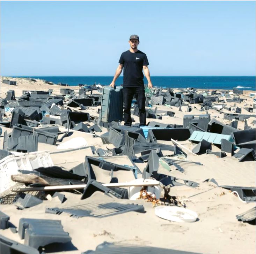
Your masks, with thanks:
[{"label": "pale beige beach sand between the scattered plastic debris", "polygon": [[[1,78],[2,79],[2,78]],[[58,85],[47,85],[42,80],[32,82],[25,78],[12,78],[17,81],[16,86],[2,84],[1,82],[1,98],[6,97],[8,90],[15,90],[15,96],[22,95],[22,90],[42,90],[47,91],[53,89],[53,93],[59,94],[59,89],[64,88]],[[77,92],[79,87],[70,87]],[[241,98],[247,99],[242,103],[236,103],[235,107],[253,107],[253,99],[248,97],[248,94],[254,91],[244,91]],[[231,107],[234,103],[228,103]],[[192,108],[196,105],[191,105]],[[167,110],[166,106],[157,106],[158,110]],[[155,107],[153,107],[155,109]],[[147,121],[156,121],[161,123],[183,123],[184,114],[202,114],[199,111],[198,105],[191,112],[177,111],[176,107],[171,107],[169,110],[175,112],[175,117],[164,116],[162,120],[147,119]],[[78,110],[78,108],[76,108]],[[97,109],[90,108],[82,110],[89,112],[92,115],[98,116]],[[230,113],[230,111],[228,111]],[[232,112],[232,111],[231,111]],[[223,120],[223,114],[217,110],[208,110],[211,114],[211,119],[216,117],[217,120]],[[255,116],[248,111],[242,112]],[[134,117],[138,122],[138,117]],[[255,128],[255,117],[249,118],[248,125]],[[62,127],[63,128],[63,127]],[[244,128],[244,122],[239,121],[239,129]],[[3,130],[11,129],[3,128]],[[60,127],[61,129],[61,127]],[[103,132],[107,129],[102,128]],[[113,148],[113,145],[102,145],[101,138],[93,137],[89,133],[74,131],[70,137],[65,137],[63,142],[74,137],[83,137],[86,139],[89,146],[96,148]],[[3,137],[1,136],[1,148]],[[165,142],[166,144],[168,143]],[[189,141],[181,142],[186,148],[193,149],[195,144]],[[217,147],[215,151],[219,151]],[[214,151],[213,149],[213,151]],[[49,150],[51,153],[57,152],[56,146],[39,143],[38,151]],[[172,154],[173,152],[167,152]],[[51,158],[56,166],[63,166],[66,169],[71,169],[79,163],[84,162],[85,156],[92,156],[92,150],[88,147],[75,152],[64,152],[59,154],[51,154]],[[128,157],[113,157],[107,158],[118,164],[128,164]],[[49,207],[66,207],[78,205],[85,200],[80,200],[80,195],[75,193],[63,192],[67,201],[63,204],[56,199],[45,200],[42,204],[24,210],[17,210],[14,205],[1,205],[1,211],[10,216],[10,222],[15,226],[19,225],[20,218],[41,218],[61,220],[64,230],[68,232],[72,238],[72,244],[63,246],[63,250],[54,248],[47,249],[47,252],[52,253],[68,253],[80,254],[89,249],[95,249],[98,244],[108,241],[111,243],[137,244],[142,246],[152,246],[161,248],[170,248],[180,251],[189,251],[196,253],[255,253],[255,225],[239,222],[236,215],[249,210],[255,206],[255,203],[244,203],[239,200],[230,191],[218,187],[212,182],[204,182],[209,178],[214,178],[219,185],[236,185],[236,186],[254,186],[255,187],[255,162],[238,162],[237,159],[227,156],[218,158],[213,154],[194,156],[188,153],[188,160],[199,161],[203,166],[190,167],[185,172],[181,173],[178,170],[168,172],[162,166],[159,171],[175,176],[180,179],[192,180],[199,183],[199,187],[192,188],[189,186],[174,186],[170,189],[170,195],[176,196],[183,200],[186,208],[195,211],[198,214],[198,220],[194,223],[177,223],[163,220],[155,215],[155,208],[150,202],[144,200],[115,200],[122,203],[138,203],[145,207],[146,213],[129,212],[119,215],[114,215],[106,218],[82,217],[73,218],[68,214],[54,215],[46,214],[45,208]],[[132,163],[130,164],[132,165]],[[136,163],[142,171],[146,163]],[[104,176],[105,177],[105,176]],[[141,175],[139,175],[141,177]],[[111,199],[95,193],[86,202],[111,202]],[[3,236],[9,237],[19,243],[23,243],[17,234],[14,234],[10,229],[1,230]]]}]

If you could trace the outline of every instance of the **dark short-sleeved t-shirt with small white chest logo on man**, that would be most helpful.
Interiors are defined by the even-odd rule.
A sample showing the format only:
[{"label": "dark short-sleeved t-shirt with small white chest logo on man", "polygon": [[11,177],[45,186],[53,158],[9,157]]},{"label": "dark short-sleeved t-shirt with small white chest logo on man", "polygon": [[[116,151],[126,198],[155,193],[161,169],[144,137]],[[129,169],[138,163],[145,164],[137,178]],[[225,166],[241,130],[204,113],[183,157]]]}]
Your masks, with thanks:
[{"label": "dark short-sleeved t-shirt with small white chest logo on man", "polygon": [[140,50],[135,53],[127,50],[121,54],[119,63],[124,65],[123,86],[136,87],[144,85],[142,68],[149,64],[145,53]]}]

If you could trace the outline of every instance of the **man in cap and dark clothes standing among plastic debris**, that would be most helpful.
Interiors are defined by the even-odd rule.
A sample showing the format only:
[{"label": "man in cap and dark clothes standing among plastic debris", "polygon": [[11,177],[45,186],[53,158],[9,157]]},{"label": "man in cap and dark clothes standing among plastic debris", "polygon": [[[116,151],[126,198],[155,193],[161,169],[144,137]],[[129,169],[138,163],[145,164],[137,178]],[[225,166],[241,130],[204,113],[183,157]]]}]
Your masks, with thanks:
[{"label": "man in cap and dark clothes standing among plastic debris", "polygon": [[123,100],[124,100],[124,125],[131,126],[131,104],[133,96],[137,100],[139,108],[140,126],[146,124],[146,110],[145,110],[145,88],[143,82],[143,73],[148,81],[148,87],[153,87],[149,70],[148,60],[145,53],[138,50],[139,36],[133,34],[130,36],[129,44],[130,49],[123,52],[120,56],[119,66],[117,67],[116,74],[111,82],[110,86],[114,88],[116,79],[122,73],[124,68],[124,80],[123,80]]}]

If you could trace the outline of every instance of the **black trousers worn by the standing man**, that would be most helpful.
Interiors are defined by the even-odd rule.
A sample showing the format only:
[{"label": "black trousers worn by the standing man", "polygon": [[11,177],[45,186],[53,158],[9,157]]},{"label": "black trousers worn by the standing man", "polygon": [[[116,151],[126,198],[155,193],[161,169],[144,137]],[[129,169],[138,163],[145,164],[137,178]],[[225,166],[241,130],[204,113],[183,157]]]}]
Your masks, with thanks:
[{"label": "black trousers worn by the standing man", "polygon": [[145,88],[140,87],[124,87],[123,88],[123,100],[124,100],[124,125],[131,126],[131,105],[133,95],[137,100],[139,108],[140,126],[146,125],[146,109],[145,109]]}]

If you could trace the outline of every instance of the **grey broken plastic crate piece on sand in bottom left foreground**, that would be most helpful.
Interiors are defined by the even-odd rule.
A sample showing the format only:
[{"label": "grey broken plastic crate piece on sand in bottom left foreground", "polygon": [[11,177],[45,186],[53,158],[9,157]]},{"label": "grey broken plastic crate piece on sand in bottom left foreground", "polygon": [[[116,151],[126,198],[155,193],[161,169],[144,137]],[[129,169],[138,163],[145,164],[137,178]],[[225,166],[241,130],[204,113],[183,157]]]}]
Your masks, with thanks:
[{"label": "grey broken plastic crate piece on sand in bottom left foreground", "polygon": [[18,234],[24,244],[39,248],[51,243],[69,243],[71,237],[63,230],[61,221],[21,218]]}]

